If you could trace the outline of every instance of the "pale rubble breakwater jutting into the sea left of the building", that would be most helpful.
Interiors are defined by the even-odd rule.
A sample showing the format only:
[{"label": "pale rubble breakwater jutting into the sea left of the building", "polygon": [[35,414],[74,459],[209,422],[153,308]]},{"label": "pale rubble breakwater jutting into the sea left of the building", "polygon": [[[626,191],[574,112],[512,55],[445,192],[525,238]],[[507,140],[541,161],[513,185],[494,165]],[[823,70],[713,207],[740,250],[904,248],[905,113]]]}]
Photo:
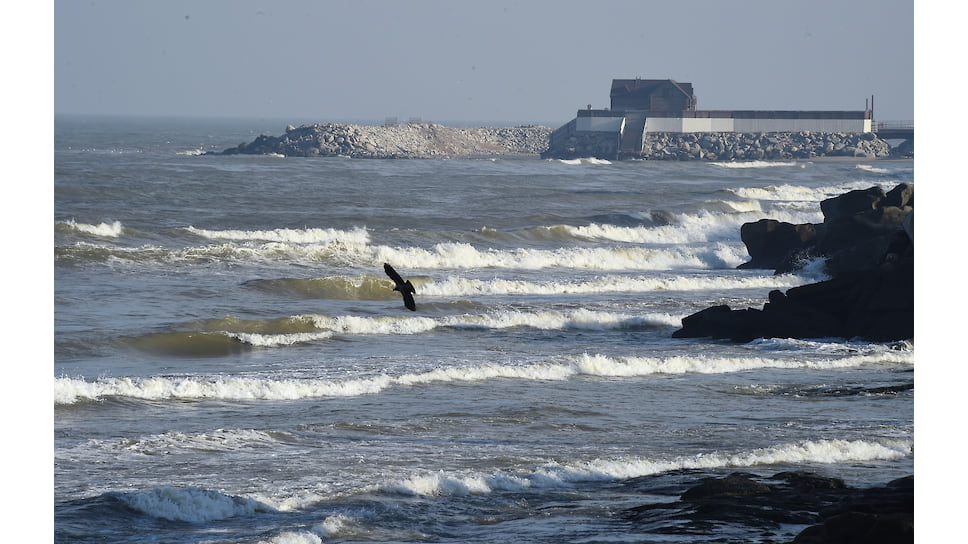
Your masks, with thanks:
[{"label": "pale rubble breakwater jutting into the sea left of the building", "polygon": [[259,136],[218,155],[427,159],[538,156],[548,146],[551,129],[518,127],[448,127],[435,123],[371,126],[316,123],[288,126],[281,136]]}]

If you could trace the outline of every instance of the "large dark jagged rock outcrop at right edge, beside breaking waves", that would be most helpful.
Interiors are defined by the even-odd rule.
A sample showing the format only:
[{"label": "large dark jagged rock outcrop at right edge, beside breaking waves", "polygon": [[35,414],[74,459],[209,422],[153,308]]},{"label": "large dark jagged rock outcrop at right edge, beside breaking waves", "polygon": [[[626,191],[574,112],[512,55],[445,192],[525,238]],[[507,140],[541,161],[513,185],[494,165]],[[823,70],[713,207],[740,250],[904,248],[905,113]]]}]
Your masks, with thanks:
[{"label": "large dark jagged rock outcrop at right edge, beside breaking waves", "polygon": [[824,259],[831,279],[771,291],[763,309],[712,306],[682,319],[675,338],[914,338],[914,185],[850,191],[824,200],[821,224],[761,219],[740,235],[740,268],[796,270]]}]

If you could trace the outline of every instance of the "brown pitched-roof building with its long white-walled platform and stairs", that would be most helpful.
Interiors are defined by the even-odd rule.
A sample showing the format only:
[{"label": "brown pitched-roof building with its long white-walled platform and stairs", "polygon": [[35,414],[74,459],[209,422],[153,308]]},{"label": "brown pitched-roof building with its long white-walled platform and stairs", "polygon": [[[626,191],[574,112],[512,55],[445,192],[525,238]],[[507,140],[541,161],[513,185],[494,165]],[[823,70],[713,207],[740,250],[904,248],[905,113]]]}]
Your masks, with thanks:
[{"label": "brown pitched-roof building with its long white-walled platform and stairs", "polygon": [[692,84],[672,79],[614,79],[609,98],[610,108],[589,105],[555,130],[547,154],[560,155],[577,143],[600,158],[635,157],[643,154],[653,133],[867,134],[874,128],[873,109],[698,110]]}]

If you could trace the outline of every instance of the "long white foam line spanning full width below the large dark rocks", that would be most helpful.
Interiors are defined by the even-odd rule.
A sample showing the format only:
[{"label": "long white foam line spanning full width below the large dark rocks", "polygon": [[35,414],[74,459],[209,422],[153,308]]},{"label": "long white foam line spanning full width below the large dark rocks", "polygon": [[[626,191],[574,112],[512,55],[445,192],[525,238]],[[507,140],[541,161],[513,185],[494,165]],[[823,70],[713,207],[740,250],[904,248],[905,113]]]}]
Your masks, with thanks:
[{"label": "long white foam line spanning full width below the large dark rocks", "polygon": [[582,355],[562,361],[532,365],[486,363],[467,367],[444,367],[401,375],[379,374],[348,380],[249,377],[112,377],[94,382],[83,378],[54,379],[54,403],[129,397],[145,400],[297,400],[373,395],[391,387],[431,383],[481,382],[496,379],[568,380],[578,376],[641,377],[657,374],[723,374],[759,368],[840,369],[867,364],[913,365],[910,352],[872,351],[841,358],[806,360],[803,357],[608,357]]}]

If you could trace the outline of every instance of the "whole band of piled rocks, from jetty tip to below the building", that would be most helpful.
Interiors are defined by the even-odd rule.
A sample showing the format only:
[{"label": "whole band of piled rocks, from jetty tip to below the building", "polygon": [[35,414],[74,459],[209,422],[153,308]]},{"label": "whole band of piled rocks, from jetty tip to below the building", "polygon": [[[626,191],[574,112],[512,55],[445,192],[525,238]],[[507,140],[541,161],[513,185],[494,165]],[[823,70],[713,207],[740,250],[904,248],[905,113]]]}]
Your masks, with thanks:
[{"label": "whole band of piled rocks, from jetty tip to below the building", "polygon": [[263,134],[212,155],[284,155],[364,159],[541,157],[607,160],[755,161],[822,157],[884,159],[913,156],[892,148],[874,133],[847,132],[652,132],[642,151],[619,152],[616,137],[579,133],[557,137],[542,125],[454,127],[437,123],[386,126],[315,123],[286,127],[285,134]]}]

